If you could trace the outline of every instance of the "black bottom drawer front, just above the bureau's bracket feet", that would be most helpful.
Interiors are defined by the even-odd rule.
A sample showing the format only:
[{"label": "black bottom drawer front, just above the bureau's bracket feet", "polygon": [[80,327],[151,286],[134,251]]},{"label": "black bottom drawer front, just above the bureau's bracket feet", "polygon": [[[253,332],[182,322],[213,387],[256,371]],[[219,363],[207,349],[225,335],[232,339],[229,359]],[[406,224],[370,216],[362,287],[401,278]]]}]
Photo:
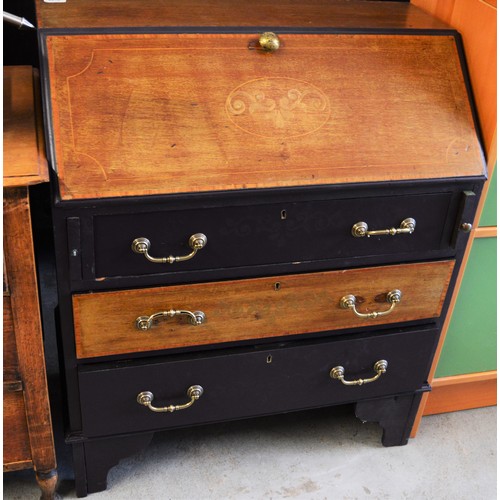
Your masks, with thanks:
[{"label": "black bottom drawer front, just above the bureau's bracket feet", "polygon": [[[166,429],[334,405],[414,391],[426,382],[437,340],[436,329],[351,335],[328,341],[268,348],[217,351],[203,356],[152,360],[121,367],[80,369],[83,433],[87,437]],[[344,385],[330,376],[342,366],[346,381],[386,373],[363,385]],[[155,412],[138,403],[150,392],[154,407],[191,401],[185,409]]]}]

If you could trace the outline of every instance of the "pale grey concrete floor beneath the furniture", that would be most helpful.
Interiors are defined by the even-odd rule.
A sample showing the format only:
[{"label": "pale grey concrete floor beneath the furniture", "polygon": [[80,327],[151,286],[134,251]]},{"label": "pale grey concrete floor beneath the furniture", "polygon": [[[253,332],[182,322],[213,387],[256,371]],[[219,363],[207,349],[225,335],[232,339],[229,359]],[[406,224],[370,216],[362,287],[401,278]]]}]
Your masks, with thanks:
[{"label": "pale grey concrete floor beneath the furniture", "polygon": [[[424,417],[407,446],[381,428],[326,408],[157,434],[111,469],[93,499],[493,500],[496,407]],[[58,441],[59,495],[76,498]],[[37,499],[31,471],[4,474],[4,499]]]}]

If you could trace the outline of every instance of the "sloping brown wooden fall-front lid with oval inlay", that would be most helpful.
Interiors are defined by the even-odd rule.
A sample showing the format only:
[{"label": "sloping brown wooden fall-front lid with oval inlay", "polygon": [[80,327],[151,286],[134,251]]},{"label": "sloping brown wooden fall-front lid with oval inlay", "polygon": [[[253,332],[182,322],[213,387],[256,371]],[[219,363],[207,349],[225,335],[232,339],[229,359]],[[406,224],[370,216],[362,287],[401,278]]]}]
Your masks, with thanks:
[{"label": "sloping brown wooden fall-front lid with oval inlay", "polygon": [[484,173],[453,37],[255,40],[48,37],[63,198]]}]

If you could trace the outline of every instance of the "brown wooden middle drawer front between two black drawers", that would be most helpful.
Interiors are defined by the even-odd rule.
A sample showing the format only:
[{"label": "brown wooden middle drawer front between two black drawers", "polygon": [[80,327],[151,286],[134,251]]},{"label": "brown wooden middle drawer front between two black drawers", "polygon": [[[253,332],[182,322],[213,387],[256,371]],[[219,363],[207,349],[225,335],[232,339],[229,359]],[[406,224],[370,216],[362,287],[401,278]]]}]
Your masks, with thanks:
[{"label": "brown wooden middle drawer front between two black drawers", "polygon": [[[441,313],[453,266],[454,261],[440,261],[77,294],[73,296],[77,356],[91,358],[434,318]],[[394,290],[402,293],[399,303],[389,303]],[[349,296],[355,297],[354,306],[360,314],[391,311],[375,318],[358,317],[353,307],[341,305],[341,299]],[[347,305],[345,301],[343,305]],[[198,323],[194,316],[201,318]]]}]

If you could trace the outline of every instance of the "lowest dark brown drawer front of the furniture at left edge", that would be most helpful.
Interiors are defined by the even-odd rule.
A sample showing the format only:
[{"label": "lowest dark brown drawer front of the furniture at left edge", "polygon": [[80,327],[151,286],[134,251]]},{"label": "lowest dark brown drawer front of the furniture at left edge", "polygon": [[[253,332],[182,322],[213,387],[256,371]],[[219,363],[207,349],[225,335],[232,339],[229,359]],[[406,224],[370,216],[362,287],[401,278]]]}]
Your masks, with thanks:
[{"label": "lowest dark brown drawer front of the furniture at left edge", "polygon": [[30,441],[22,392],[4,392],[3,429],[4,470],[31,467]]}]

